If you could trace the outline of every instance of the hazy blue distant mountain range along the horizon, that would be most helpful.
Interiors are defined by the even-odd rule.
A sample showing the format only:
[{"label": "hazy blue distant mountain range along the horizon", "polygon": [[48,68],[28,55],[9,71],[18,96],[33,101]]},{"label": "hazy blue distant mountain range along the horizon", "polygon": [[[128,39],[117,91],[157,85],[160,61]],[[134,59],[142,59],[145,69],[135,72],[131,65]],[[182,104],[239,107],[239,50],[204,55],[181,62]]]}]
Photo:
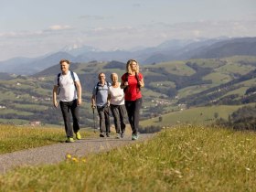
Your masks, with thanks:
[{"label": "hazy blue distant mountain range along the horizon", "polygon": [[72,62],[92,60],[125,62],[137,59],[141,64],[153,64],[169,60],[223,58],[233,55],[256,56],[256,37],[170,40],[155,48],[101,51],[88,46],[71,46],[57,53],[38,58],[14,58],[0,61],[0,72],[32,75],[59,63],[60,59]]}]

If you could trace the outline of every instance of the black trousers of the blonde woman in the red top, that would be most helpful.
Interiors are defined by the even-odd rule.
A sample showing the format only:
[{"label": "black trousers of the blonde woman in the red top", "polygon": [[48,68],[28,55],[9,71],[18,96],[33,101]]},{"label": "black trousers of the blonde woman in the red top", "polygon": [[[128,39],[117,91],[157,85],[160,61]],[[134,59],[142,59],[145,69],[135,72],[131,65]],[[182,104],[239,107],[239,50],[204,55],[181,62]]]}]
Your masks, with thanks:
[{"label": "black trousers of the blonde woman in the red top", "polygon": [[139,131],[140,110],[143,105],[143,99],[135,101],[125,101],[125,107],[128,114],[129,123],[132,127],[133,134],[137,135]]}]

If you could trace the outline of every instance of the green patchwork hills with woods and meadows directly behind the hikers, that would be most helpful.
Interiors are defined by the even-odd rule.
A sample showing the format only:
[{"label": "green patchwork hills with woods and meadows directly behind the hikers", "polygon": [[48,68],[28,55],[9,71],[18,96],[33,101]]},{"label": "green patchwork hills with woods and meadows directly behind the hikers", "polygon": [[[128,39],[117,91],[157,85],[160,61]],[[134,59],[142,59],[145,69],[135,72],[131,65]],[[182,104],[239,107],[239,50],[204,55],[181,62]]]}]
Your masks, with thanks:
[{"label": "green patchwork hills with woods and meadows directly behind the hikers", "polygon": [[[125,63],[119,61],[71,63],[82,85],[81,124],[93,126],[91,91],[98,73],[112,72],[119,77]],[[256,57],[235,56],[223,59],[188,59],[141,66],[145,88],[142,120],[191,107],[238,105],[255,102]],[[0,81],[0,122],[60,124],[59,110],[52,107],[53,80],[59,65],[33,76],[16,76]],[[255,88],[256,89],[256,88]]]}]

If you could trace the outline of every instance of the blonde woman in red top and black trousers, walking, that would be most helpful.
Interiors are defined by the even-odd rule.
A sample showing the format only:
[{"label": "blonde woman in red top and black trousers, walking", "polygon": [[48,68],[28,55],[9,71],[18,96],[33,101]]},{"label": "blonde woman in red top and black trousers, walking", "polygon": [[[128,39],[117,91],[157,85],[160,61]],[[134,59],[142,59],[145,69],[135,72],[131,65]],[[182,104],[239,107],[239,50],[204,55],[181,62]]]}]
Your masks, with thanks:
[{"label": "blonde woman in red top and black trousers, walking", "polygon": [[139,69],[138,62],[130,59],[126,64],[126,73],[121,78],[125,108],[133,131],[132,140],[138,139],[140,109],[143,103],[141,88],[144,87],[144,77]]}]

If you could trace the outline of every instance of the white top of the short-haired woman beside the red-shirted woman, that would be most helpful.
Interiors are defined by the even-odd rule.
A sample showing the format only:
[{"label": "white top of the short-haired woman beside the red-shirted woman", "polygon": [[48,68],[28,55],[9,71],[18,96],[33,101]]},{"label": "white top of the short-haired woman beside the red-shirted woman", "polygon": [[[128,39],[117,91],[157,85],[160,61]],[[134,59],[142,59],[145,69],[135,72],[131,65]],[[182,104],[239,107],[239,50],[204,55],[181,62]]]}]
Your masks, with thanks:
[{"label": "white top of the short-haired woman beside the red-shirted woman", "polygon": [[123,105],[124,104],[124,92],[123,89],[120,88],[120,84],[117,88],[110,87],[109,93],[111,94],[111,104],[114,105]]}]

